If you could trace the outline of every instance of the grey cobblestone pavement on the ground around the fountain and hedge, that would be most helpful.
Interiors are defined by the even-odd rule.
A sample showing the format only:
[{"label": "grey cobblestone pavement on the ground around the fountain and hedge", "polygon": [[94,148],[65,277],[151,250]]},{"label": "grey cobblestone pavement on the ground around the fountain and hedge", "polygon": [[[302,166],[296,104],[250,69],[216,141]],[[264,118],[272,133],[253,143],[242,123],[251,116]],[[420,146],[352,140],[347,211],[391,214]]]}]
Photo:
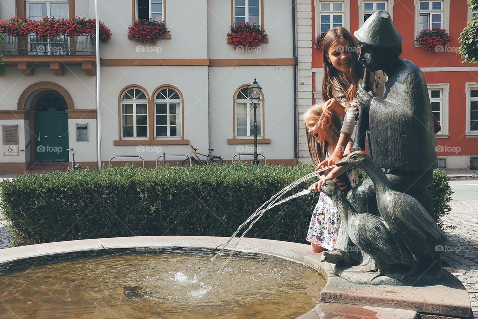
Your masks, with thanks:
[{"label": "grey cobblestone pavement on the ground around the fountain and hedge", "polygon": [[[452,211],[444,218],[445,232],[460,248],[442,254],[443,267],[463,283],[473,316],[478,318],[478,200],[452,201],[450,205]],[[0,249],[10,247],[12,238],[0,212]]]}]

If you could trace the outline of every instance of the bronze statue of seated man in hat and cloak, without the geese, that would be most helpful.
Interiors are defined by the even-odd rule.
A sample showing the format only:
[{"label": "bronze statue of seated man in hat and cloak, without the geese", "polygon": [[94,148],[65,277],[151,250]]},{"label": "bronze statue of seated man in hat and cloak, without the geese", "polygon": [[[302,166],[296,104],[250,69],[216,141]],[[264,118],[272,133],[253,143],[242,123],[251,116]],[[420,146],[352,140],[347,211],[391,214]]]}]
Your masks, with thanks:
[{"label": "bronze statue of seated man in hat and cloak, without the geese", "polygon": [[[381,70],[387,76],[382,97],[373,96],[363,84],[357,92],[360,112],[369,116],[368,145],[373,161],[384,169],[394,190],[413,196],[432,215],[428,186],[438,160],[423,74],[414,63],[400,58],[403,39],[386,11],[375,12],[354,35],[360,45],[360,62],[368,71]],[[379,215],[370,178],[353,188],[347,198],[357,211]],[[340,229],[337,250],[324,252],[325,260],[344,266],[361,262],[361,254],[350,253],[355,250],[348,245],[347,233]],[[419,269],[430,265],[434,271],[440,270],[440,263],[434,260],[425,261]]]}]

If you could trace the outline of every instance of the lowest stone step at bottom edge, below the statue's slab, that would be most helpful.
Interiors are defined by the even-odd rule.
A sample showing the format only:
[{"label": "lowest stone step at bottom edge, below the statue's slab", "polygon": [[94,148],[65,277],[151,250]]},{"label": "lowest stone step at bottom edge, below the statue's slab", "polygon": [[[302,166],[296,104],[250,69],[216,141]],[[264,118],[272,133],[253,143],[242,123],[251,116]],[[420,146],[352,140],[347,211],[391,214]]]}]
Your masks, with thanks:
[{"label": "lowest stone step at bottom edge, below the statue's slab", "polygon": [[419,319],[412,310],[320,303],[297,319]]}]

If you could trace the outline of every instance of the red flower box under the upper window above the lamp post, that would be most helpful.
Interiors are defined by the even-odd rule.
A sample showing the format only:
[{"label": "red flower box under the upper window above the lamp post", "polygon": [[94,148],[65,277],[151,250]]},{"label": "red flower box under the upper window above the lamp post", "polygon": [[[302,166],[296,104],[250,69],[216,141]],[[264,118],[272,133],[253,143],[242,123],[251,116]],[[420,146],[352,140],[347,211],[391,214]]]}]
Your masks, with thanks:
[{"label": "red flower box under the upper window above the lamp post", "polygon": [[236,50],[238,47],[257,48],[261,43],[267,43],[267,33],[260,25],[249,22],[239,22],[231,26],[228,43]]}]

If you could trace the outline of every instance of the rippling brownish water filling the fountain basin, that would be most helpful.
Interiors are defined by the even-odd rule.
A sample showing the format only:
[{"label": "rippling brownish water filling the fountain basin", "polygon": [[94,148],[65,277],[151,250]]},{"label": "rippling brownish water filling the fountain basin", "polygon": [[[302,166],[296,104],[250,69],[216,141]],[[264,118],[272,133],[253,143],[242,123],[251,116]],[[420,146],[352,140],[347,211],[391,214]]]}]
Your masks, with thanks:
[{"label": "rippling brownish water filling the fountain basin", "polygon": [[[159,251],[161,250],[161,251]],[[0,265],[0,318],[295,318],[324,279],[284,259],[237,252],[117,249]],[[207,270],[207,272],[205,272]]]}]

